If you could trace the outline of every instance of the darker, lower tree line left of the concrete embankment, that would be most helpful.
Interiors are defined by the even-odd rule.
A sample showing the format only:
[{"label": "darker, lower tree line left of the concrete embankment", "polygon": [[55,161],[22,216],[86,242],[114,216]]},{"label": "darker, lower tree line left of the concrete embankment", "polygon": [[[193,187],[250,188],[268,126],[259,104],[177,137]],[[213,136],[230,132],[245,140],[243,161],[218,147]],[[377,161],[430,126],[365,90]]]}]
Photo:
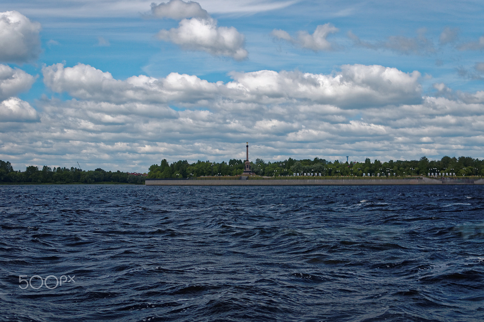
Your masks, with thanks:
[{"label": "darker, lower tree line left of the concrete embankment", "polygon": [[29,166],[25,171],[15,171],[9,161],[0,160],[0,182],[2,183],[35,183],[35,184],[94,184],[125,183],[144,184],[145,177],[127,172],[111,172],[101,168],[85,171],[71,167],[55,168],[44,166],[42,170]]}]

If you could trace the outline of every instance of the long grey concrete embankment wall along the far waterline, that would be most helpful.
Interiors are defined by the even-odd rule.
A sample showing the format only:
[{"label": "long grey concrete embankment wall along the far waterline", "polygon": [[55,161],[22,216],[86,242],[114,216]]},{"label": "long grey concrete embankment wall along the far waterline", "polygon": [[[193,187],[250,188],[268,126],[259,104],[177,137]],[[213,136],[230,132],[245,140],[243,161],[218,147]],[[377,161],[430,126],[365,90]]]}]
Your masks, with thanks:
[{"label": "long grey concrete embankment wall along the far waterline", "polygon": [[415,178],[415,179],[249,179],[249,180],[224,180],[224,179],[182,179],[163,180],[147,179],[146,185],[403,185],[403,184],[484,184],[480,180],[446,180]]}]

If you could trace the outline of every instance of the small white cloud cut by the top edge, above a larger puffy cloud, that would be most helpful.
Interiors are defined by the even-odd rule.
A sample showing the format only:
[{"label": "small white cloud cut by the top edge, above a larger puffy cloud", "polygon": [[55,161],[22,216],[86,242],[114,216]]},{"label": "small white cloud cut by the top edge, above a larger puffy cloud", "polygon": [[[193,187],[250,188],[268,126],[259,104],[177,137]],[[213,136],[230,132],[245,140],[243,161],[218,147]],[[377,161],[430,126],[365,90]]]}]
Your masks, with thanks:
[{"label": "small white cloud cut by the top edge, above a larger puffy cloud", "polygon": [[198,2],[184,2],[181,0],[170,0],[160,4],[151,3],[151,13],[158,18],[171,18],[175,20],[194,17],[207,19],[210,17]]}]

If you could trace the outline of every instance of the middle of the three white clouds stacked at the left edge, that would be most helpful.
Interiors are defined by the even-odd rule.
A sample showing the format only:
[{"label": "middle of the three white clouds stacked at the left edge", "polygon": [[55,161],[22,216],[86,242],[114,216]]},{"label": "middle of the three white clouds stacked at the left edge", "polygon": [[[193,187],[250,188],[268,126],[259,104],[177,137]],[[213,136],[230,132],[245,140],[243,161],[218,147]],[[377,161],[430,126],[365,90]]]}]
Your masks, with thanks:
[{"label": "middle of the three white clouds stacked at the left edge", "polygon": [[30,89],[35,77],[21,69],[0,64],[0,101]]}]

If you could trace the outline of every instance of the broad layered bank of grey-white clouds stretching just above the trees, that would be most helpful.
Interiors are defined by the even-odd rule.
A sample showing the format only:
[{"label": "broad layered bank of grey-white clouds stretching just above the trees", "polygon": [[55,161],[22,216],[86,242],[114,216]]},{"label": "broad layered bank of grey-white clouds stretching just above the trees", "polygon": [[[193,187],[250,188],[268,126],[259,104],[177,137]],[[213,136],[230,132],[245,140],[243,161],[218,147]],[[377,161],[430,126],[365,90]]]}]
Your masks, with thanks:
[{"label": "broad layered bank of grey-white clouds stretching just above the trees", "polygon": [[246,141],[254,142],[253,158],[270,161],[484,152],[484,92],[436,84],[454,98],[422,97],[418,72],[343,65],[330,75],[232,73],[227,83],[177,73],[119,80],[83,64],[43,73],[49,88],[75,98],[41,99],[40,122],[4,123],[0,159],[15,169],[79,161],[86,169],[146,171],[162,158],[242,159]]}]

